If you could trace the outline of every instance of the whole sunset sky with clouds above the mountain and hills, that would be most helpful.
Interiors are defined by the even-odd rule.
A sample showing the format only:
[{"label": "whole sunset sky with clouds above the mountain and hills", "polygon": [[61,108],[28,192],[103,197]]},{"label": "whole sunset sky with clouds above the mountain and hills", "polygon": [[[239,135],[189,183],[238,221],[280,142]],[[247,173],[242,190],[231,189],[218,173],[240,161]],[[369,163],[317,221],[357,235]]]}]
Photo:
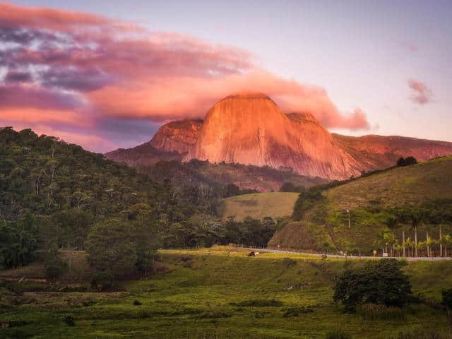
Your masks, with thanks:
[{"label": "whole sunset sky with clouds above the mountain and hills", "polygon": [[256,90],[329,131],[452,141],[452,1],[0,3],[0,126],[96,152]]}]

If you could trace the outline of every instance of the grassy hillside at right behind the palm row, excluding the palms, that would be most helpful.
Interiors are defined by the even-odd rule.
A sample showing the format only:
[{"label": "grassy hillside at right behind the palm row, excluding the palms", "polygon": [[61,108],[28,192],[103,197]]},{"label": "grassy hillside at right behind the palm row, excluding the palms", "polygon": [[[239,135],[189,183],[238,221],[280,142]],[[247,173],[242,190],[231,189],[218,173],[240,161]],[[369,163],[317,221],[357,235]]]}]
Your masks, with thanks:
[{"label": "grassy hillside at right behind the palm row, excluding the palms", "polygon": [[[398,244],[402,231],[414,239],[410,222],[391,220],[394,208],[420,206],[426,210],[447,213],[452,205],[452,156],[422,162],[408,167],[396,167],[351,180],[345,184],[331,184],[316,195],[302,194],[295,205],[292,222],[278,230],[270,246],[296,249],[340,249],[371,254],[380,250],[379,232],[389,227]],[[309,201],[309,203],[307,203]],[[350,210],[350,228],[347,210]],[[420,241],[427,231],[432,239],[439,238],[439,225],[444,234],[452,234],[449,220],[422,220],[418,227]],[[438,244],[433,244],[438,254]],[[450,245],[449,245],[450,246]]]}]

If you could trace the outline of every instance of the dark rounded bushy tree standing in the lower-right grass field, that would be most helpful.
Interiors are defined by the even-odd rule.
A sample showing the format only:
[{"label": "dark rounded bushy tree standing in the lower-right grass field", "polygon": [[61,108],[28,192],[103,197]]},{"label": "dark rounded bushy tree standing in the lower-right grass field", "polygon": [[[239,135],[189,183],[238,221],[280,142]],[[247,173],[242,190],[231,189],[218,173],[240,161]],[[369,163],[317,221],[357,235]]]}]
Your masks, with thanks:
[{"label": "dark rounded bushy tree standing in the lower-right grass field", "polygon": [[363,268],[346,270],[334,287],[333,299],[346,309],[359,304],[402,307],[411,294],[408,276],[396,259],[369,261]]}]

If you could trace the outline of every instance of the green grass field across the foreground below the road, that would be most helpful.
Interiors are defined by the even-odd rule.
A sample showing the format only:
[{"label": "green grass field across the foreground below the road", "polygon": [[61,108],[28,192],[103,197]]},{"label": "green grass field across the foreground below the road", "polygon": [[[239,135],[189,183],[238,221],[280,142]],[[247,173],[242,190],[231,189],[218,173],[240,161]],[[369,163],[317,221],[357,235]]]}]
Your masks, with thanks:
[{"label": "green grass field across the foreground below the road", "polygon": [[[0,323],[16,324],[0,328],[0,338],[326,338],[342,328],[352,338],[383,339],[448,328],[444,311],[427,304],[405,307],[403,321],[344,314],[332,301],[335,277],[362,261],[247,254],[225,246],[160,251],[165,269],[120,284],[120,292],[52,292],[49,284],[16,283],[29,292],[11,295],[0,287]],[[409,263],[405,270],[414,292],[433,301],[452,287],[451,262]],[[67,314],[75,326],[64,322]]]}]

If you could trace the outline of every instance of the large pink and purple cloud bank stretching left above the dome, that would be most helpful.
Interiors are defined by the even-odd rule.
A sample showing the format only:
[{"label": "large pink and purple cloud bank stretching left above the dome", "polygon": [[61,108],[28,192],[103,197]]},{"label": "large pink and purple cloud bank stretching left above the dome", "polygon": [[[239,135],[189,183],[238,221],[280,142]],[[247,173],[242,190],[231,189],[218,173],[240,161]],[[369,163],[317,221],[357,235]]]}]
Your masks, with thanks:
[{"label": "large pink and purple cloud bank stretching left above the dome", "polygon": [[39,122],[42,129],[66,124],[71,133],[90,121],[96,131],[105,119],[204,117],[222,97],[254,90],[285,112],[314,114],[328,128],[369,128],[361,109],[341,112],[323,88],[260,69],[244,49],[189,35],[149,32],[89,13],[0,4],[0,39],[12,43],[0,50],[0,67],[7,70],[0,78],[0,120],[35,109],[16,114],[16,121]]}]

